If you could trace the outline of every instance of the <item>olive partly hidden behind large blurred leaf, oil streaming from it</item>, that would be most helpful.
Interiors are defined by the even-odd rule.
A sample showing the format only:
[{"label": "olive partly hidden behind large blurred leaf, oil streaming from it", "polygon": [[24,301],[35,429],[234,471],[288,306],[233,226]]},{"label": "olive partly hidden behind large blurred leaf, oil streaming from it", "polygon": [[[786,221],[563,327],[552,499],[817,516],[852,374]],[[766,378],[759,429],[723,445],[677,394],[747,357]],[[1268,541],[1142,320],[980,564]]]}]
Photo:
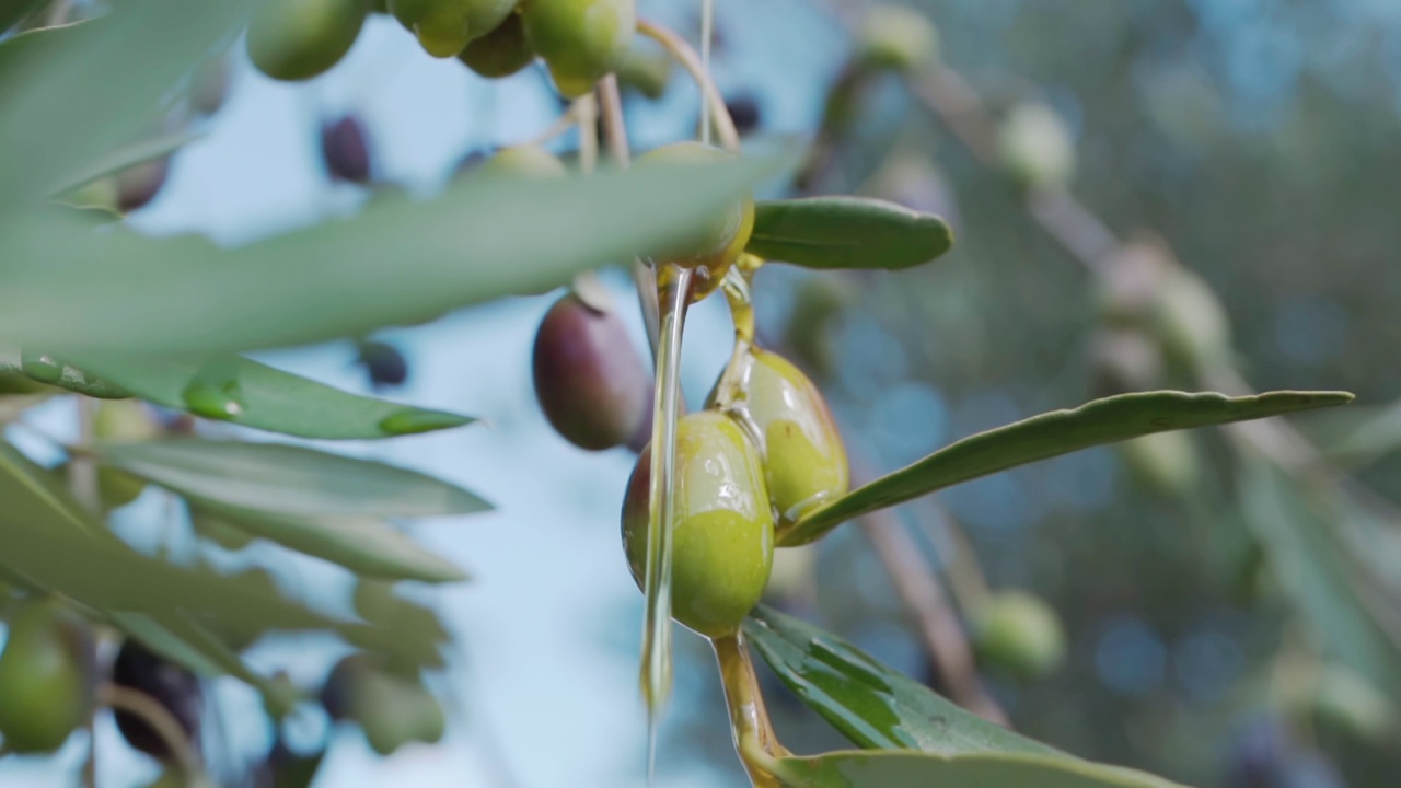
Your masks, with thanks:
[{"label": "olive partly hidden behind large blurred leaf, oil streaming from it", "polygon": [[[679,142],[664,147],[649,150],[637,157],[637,165],[647,164],[682,164],[705,161],[729,161],[733,154],[700,144],[698,142]],[[664,250],[657,257],[665,262],[674,262],[682,268],[696,268],[705,272],[705,282],[698,289],[713,290],[724,279],[726,271],[744,252],[750,243],[750,233],[754,231],[754,199],[745,196],[743,202],[730,206],[716,216],[708,226],[695,236],[685,238],[670,250]]]}]

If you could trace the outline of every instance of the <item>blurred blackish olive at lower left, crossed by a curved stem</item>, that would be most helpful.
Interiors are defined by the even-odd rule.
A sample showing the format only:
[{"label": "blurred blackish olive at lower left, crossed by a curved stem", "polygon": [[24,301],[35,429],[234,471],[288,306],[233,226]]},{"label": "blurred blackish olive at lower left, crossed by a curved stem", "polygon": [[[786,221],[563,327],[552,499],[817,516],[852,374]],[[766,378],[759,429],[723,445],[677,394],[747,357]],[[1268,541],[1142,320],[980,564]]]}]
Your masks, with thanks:
[{"label": "blurred blackish olive at lower left, crossed by a curved stem", "polygon": [[[205,693],[199,686],[198,676],[151,653],[136,641],[126,641],[122,644],[122,651],[116,653],[116,662],[112,663],[112,683],[136,690],[165,707],[165,711],[171,712],[171,716],[185,731],[186,739],[192,743],[199,742],[199,718],[205,711]],[[165,739],[161,739],[142,716],[125,709],[116,709],[113,716],[116,728],[127,745],[154,759],[170,760],[172,757],[174,753],[165,745]]]}]

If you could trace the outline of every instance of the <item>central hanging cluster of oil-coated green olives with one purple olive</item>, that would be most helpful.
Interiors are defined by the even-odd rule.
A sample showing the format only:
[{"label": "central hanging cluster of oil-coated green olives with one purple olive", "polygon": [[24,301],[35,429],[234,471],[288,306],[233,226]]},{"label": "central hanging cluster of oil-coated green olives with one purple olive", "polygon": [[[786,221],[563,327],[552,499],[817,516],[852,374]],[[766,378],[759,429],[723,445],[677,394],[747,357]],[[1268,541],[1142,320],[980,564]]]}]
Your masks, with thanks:
[{"label": "central hanging cluster of oil-coated green olives with one purple olive", "polygon": [[[726,156],[700,143],[678,143],[639,157],[637,165]],[[727,275],[747,279],[759,264],[744,255],[752,226],[754,203],[744,199],[696,236],[654,255],[657,269],[663,279],[672,265],[692,269],[692,300],[720,289]],[[546,313],[535,337],[535,393],[549,422],[576,446],[642,449],[622,515],[628,564],[640,585],[653,383],[604,301],[580,289]],[[740,334],[706,409],[677,425],[672,617],[708,637],[733,634],[759,600],[776,531],[849,485],[846,450],[817,387],[789,360]]]}]

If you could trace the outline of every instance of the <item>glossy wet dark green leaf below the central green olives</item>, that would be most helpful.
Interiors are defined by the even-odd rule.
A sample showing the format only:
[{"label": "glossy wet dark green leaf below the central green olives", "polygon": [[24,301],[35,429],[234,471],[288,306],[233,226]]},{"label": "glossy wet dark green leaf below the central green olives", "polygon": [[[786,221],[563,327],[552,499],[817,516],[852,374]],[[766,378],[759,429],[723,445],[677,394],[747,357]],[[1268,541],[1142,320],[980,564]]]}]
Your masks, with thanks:
[{"label": "glossy wet dark green leaf below the central green olives", "polygon": [[964,711],[800,618],[757,607],[744,634],[803,702],[848,739],[876,750],[1059,754]]}]

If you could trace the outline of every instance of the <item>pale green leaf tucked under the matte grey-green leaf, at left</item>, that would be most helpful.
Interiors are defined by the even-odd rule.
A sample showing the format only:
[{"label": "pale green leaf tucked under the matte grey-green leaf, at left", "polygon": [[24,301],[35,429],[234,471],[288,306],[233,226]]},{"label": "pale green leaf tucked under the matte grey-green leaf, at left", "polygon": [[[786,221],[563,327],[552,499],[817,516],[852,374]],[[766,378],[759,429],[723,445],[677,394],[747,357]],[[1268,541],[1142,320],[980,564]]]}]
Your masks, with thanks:
[{"label": "pale green leaf tucked under the matte grey-green leaf, at left", "polygon": [[408,534],[366,515],[284,515],[188,495],[191,508],[283,547],[325,558],[368,578],[451,583],[467,573]]}]

